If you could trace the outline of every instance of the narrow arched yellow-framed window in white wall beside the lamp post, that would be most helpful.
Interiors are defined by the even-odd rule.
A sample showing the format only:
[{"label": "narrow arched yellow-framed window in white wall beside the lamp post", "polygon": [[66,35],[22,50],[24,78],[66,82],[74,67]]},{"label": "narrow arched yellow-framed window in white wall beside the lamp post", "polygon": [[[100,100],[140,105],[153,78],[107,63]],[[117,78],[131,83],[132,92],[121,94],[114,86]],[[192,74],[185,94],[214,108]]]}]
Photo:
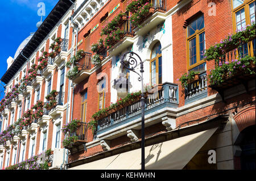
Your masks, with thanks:
[{"label": "narrow arched yellow-framed window in white wall beside the lamp post", "polygon": [[150,60],[150,84],[151,86],[162,83],[162,50],[160,42],[152,48]]}]

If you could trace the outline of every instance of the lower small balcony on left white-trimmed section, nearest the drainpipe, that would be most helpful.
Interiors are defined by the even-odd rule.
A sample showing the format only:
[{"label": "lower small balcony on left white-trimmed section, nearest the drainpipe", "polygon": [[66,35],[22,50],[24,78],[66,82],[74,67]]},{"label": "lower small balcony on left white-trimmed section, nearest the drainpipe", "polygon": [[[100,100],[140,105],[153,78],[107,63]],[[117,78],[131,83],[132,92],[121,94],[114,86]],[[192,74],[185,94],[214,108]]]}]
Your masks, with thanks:
[{"label": "lower small balcony on left white-trimmed section, nearest the drainpipe", "polygon": [[55,117],[56,115],[60,115],[60,117],[63,117],[63,103],[64,103],[64,95],[65,92],[57,92],[57,96],[55,98],[56,103],[53,103],[53,106],[51,107],[51,110],[48,112],[49,116]]}]

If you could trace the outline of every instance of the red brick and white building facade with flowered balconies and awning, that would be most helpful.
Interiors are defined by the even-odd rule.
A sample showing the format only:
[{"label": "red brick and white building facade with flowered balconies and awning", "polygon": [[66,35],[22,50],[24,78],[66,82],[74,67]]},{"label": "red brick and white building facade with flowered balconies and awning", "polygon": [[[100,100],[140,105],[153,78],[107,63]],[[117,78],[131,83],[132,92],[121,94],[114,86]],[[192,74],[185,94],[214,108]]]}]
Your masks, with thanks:
[{"label": "red brick and white building facade with flowered balconies and awning", "polygon": [[[1,78],[7,95],[1,101],[1,168],[51,149],[49,169],[141,169],[141,103],[138,96],[127,100],[116,89],[125,72],[131,84],[125,95],[141,90],[138,74],[129,70],[140,73],[139,64],[121,66],[122,55],[132,51],[143,62],[143,86],[149,92],[146,169],[255,169],[255,61],[246,67],[251,74],[238,72],[218,85],[210,82],[220,62],[231,65],[246,55],[255,60],[255,35],[241,49],[233,46],[214,60],[205,57],[214,45],[227,38],[232,42],[231,35],[254,26],[255,1],[135,2],[138,6],[130,7],[134,1],[128,0],[57,3]],[[60,49],[51,48],[52,43]],[[59,51],[50,58],[55,48]],[[240,50],[229,59],[229,52]],[[8,98],[7,92],[30,75],[31,65],[40,65],[41,52],[48,53],[46,68]],[[193,71],[199,78],[182,86],[181,76]],[[56,104],[42,108],[39,118],[17,131],[38,100],[52,103],[46,98],[52,90],[58,92]],[[69,129],[67,134],[61,128]],[[216,155],[213,163],[211,153]]]}]

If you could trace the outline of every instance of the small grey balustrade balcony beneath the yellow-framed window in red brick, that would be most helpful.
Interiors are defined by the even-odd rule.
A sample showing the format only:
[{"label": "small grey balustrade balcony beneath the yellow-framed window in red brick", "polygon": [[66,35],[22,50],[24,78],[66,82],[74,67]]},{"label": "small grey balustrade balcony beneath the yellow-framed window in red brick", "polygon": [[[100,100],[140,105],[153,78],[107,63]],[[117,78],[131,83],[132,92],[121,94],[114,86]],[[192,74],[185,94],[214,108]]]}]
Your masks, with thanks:
[{"label": "small grey balustrade balcony beneath the yellow-framed window in red brick", "polygon": [[191,82],[185,87],[185,104],[207,97],[207,74],[199,75],[199,79]]}]

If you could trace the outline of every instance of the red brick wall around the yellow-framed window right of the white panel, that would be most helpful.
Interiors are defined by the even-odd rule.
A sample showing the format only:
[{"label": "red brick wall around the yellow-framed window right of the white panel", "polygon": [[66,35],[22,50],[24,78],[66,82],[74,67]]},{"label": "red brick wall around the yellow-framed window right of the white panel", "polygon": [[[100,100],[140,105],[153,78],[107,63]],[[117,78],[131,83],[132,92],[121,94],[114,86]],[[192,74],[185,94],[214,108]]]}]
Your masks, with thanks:
[{"label": "red brick wall around the yellow-framed window right of the white panel", "polygon": [[[179,83],[179,106],[184,106],[184,90],[180,82],[177,80],[182,74],[187,72],[187,48],[186,48],[186,29],[183,27],[185,20],[191,18],[197,12],[201,11],[204,14],[205,23],[205,45],[209,48],[215,42],[224,39],[228,33],[233,32],[232,28],[232,10],[230,1],[216,2],[216,16],[208,14],[210,7],[208,1],[192,1],[185,7],[178,10],[172,16],[172,36],[174,50],[174,83]],[[207,69],[214,68],[214,62],[207,62]],[[208,72],[207,72],[208,73]],[[208,87],[208,94],[215,94]]]}]

